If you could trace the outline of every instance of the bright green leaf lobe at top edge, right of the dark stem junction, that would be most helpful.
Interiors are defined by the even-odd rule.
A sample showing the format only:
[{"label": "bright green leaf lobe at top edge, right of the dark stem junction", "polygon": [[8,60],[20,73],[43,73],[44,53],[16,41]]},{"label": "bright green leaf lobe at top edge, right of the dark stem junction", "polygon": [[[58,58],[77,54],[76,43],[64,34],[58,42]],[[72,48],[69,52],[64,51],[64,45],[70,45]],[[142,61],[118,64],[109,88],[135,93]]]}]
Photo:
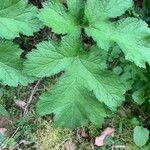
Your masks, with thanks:
[{"label": "bright green leaf lobe at top edge, right of the dark stem junction", "polygon": [[90,24],[116,18],[132,7],[132,0],[88,0],[85,14]]}]

